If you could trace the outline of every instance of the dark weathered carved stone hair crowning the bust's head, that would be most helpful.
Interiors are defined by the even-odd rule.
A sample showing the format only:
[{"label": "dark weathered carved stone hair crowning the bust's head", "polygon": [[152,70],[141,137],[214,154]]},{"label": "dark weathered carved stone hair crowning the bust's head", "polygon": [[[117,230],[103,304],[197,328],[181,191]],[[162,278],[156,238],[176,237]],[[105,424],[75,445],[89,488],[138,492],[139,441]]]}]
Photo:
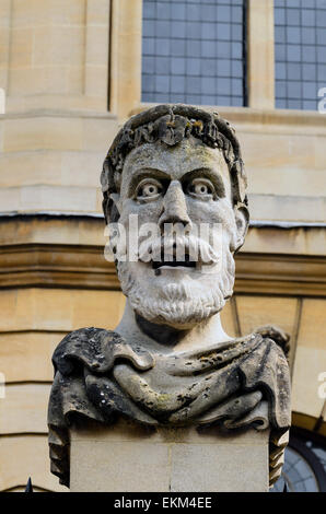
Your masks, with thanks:
[{"label": "dark weathered carved stone hair crowning the bust's head", "polygon": [[210,148],[222,150],[230,171],[233,205],[247,206],[244,163],[235,130],[229,121],[218,113],[190,105],[158,105],[132,116],[119,130],[108,150],[101,175],[105,218],[108,213],[110,220],[116,221],[117,212],[112,209],[109,195],[120,189],[125,160],[131,150],[156,141],[174,147],[190,136]]}]

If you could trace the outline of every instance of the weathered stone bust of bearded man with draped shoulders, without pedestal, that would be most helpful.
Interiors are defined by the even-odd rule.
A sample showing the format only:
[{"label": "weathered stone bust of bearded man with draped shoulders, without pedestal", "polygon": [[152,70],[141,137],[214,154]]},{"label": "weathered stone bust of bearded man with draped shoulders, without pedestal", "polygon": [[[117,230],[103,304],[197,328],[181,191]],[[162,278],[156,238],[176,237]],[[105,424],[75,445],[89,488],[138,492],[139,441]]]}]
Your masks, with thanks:
[{"label": "weathered stone bust of bearded man with draped shoulders, without pedestal", "polygon": [[[248,225],[234,129],[187,105],[145,110],[118,132],[101,183],[106,222],[118,226],[110,247],[126,309],[115,331],[75,330],[54,353],[51,471],[69,486],[70,423],[125,417],[269,429],[273,483],[290,427],[287,338],[260,330],[233,339],[220,320]],[[124,258],[121,234],[130,237],[136,219],[136,258]]]}]

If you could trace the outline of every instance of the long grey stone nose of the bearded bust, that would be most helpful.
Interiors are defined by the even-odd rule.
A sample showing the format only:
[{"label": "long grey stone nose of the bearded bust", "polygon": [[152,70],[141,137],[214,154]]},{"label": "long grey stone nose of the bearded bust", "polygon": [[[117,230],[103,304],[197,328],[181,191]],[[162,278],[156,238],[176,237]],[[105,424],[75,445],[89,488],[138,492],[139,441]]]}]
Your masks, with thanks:
[{"label": "long grey stone nose of the bearded bust", "polygon": [[191,227],[185,194],[178,180],[172,180],[165,192],[163,212],[159,220],[161,230],[164,229],[164,223],[182,223],[189,230]]}]

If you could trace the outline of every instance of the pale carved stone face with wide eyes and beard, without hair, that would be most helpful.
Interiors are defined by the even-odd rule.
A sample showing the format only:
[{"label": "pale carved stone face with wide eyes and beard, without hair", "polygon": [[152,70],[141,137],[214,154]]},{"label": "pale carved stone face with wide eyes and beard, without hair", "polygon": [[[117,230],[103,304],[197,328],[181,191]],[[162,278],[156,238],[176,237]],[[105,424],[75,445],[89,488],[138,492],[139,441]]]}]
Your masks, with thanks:
[{"label": "pale carved stone face with wide eyes and beard, without hair", "polygon": [[[219,312],[231,296],[233,253],[243,244],[247,226],[245,209],[233,208],[231,189],[222,151],[193,137],[175,147],[147,143],[129,153],[120,194],[112,195],[119,223],[127,234],[130,214],[137,214],[140,232],[154,223],[156,236],[149,240],[144,232],[139,241],[151,250],[162,246],[160,261],[153,260],[158,253],[154,257],[152,252],[149,260],[140,252],[138,261],[118,262],[123,291],[142,317],[189,328]],[[168,240],[164,229],[174,226],[184,230],[184,237],[170,240],[174,246],[165,246],[163,254]],[[184,245],[179,255],[178,241]]]}]

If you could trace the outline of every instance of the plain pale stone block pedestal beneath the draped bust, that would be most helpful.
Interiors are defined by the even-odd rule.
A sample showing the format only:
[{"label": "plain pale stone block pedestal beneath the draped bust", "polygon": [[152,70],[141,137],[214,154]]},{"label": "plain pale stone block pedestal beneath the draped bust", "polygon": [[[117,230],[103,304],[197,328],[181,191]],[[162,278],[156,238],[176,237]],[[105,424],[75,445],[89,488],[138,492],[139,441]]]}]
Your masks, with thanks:
[{"label": "plain pale stone block pedestal beneath the draped bust", "polygon": [[70,432],[72,492],[265,492],[269,432],[143,428],[120,421]]}]

